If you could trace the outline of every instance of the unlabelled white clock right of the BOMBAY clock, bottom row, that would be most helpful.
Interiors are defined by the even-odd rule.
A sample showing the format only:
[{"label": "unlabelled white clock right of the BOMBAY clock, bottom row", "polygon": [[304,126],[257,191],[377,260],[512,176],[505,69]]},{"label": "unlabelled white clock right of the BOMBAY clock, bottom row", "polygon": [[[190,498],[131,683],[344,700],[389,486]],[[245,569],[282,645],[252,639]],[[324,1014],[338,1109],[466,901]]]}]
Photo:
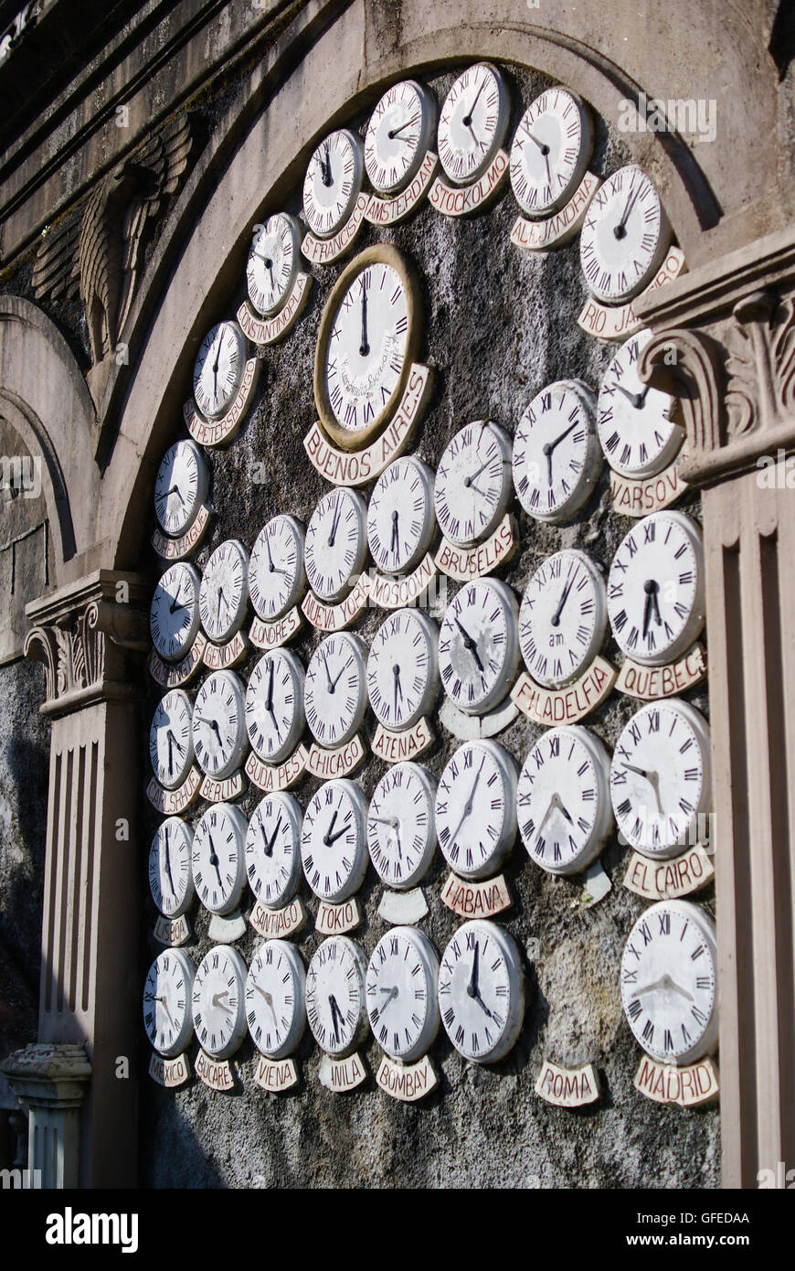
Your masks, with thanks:
[{"label": "unlabelled white clock right of the BOMBAY clock, bottom row", "polygon": [[439,1012],[460,1055],[502,1059],[524,1018],[524,975],[512,937],[495,923],[464,923],[442,955]]}]

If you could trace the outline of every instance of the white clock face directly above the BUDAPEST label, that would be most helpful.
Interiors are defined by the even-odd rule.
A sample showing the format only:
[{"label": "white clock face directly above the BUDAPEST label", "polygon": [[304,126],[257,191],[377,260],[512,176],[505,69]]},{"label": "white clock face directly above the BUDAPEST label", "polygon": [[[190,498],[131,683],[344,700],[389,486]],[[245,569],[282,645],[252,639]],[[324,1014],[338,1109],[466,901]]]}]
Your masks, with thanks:
[{"label": "white clock face directly above the BUDAPEST label", "polygon": [[304,732],[304,667],[295,653],[277,648],[260,657],[245,691],[245,727],[265,764],[293,752]]}]

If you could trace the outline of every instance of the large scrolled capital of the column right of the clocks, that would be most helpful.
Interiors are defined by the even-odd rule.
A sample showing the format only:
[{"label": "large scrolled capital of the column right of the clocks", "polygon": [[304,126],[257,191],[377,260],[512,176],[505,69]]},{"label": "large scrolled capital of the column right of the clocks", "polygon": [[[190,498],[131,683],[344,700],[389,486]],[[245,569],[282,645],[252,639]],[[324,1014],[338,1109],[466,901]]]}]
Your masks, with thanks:
[{"label": "large scrolled capital of the column right of the clocks", "polygon": [[679,469],[712,484],[795,449],[795,228],[636,302],[653,332],[639,375],[679,398]]}]

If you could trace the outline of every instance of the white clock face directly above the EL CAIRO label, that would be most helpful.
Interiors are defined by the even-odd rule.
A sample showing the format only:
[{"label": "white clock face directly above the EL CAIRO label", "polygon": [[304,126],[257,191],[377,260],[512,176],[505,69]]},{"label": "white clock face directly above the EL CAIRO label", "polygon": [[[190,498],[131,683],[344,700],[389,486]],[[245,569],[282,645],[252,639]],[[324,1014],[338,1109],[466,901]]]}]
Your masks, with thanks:
[{"label": "white clock face directly above the EL CAIRO label", "polygon": [[704,716],[678,698],[651,702],[616,742],[610,794],[625,840],[665,859],[696,841],[711,802],[710,737]]}]

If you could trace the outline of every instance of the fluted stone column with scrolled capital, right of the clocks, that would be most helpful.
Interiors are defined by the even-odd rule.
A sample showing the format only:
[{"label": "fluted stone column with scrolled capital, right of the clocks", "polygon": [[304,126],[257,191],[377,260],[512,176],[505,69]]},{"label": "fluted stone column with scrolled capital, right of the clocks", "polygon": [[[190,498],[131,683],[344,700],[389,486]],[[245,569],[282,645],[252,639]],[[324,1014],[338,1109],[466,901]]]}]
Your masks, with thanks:
[{"label": "fluted stone column with scrolled capital, right of the clocks", "polygon": [[643,308],[702,487],[723,1183],[756,1187],[795,1167],[795,230]]}]

